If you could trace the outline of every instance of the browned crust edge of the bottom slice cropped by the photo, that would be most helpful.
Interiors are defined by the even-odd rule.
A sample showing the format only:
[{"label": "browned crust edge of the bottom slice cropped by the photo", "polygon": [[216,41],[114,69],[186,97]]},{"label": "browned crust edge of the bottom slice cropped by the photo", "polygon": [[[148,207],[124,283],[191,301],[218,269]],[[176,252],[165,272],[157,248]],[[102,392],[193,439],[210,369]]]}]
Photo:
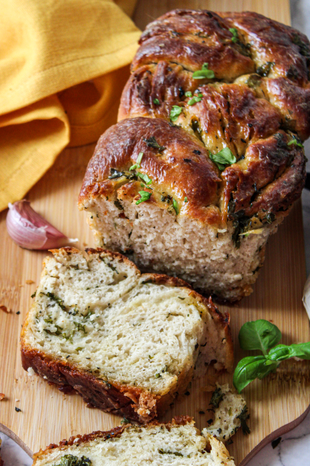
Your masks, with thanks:
[{"label": "browned crust edge of the bottom slice cropped by the photo", "polygon": [[[186,424],[194,424],[193,418],[191,418],[190,416],[175,416],[174,418],[171,419],[171,422],[167,422],[167,423],[159,423],[158,421],[154,420],[144,425],[143,428],[151,429],[154,425],[164,425],[167,429],[169,429],[175,425],[186,425]],[[83,443],[88,443],[95,439],[104,438],[104,440],[108,440],[114,437],[120,437],[122,433],[125,431],[125,429],[128,429],[130,427],[132,427],[131,424],[117,426],[111,429],[110,431],[106,431],[106,432],[95,431],[90,434],[85,434],[83,436],[82,435],[72,436],[68,440],[66,439],[61,440],[58,445],[51,443],[50,445],[47,445],[45,450],[40,450],[38,453],[34,453],[33,465],[35,465],[37,460],[43,459],[44,455],[50,454],[54,448],[59,448],[60,450],[66,450],[69,446],[72,446],[72,445],[79,446],[79,445],[82,445]]]}]

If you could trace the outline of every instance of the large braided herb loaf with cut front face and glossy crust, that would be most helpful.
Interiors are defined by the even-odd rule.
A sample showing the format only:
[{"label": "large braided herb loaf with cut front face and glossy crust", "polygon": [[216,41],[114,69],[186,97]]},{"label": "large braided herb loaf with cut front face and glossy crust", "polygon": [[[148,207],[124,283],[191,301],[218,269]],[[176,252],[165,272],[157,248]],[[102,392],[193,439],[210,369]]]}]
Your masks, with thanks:
[{"label": "large braided herb loaf with cut front face and glossy crust", "polygon": [[309,41],[253,12],[174,10],[139,43],[79,208],[142,271],[239,300],[303,189]]}]

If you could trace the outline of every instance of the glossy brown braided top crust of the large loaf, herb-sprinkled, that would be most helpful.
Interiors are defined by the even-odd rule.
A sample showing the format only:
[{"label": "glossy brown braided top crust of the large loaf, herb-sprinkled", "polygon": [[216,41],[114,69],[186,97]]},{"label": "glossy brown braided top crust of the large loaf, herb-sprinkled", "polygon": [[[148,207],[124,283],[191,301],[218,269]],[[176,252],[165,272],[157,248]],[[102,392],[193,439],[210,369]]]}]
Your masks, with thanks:
[{"label": "glossy brown braided top crust of the large loaf, herb-sprinkled", "polygon": [[[125,172],[143,152],[148,202],[161,208],[167,194],[177,214],[209,224],[283,216],[305,179],[307,37],[253,12],[178,9],[149,24],[139,43],[119,123],[99,139],[80,201],[120,184],[119,198],[139,197],[139,180]],[[234,163],[214,163],[224,148]],[[111,168],[124,180],[108,179]]]}]

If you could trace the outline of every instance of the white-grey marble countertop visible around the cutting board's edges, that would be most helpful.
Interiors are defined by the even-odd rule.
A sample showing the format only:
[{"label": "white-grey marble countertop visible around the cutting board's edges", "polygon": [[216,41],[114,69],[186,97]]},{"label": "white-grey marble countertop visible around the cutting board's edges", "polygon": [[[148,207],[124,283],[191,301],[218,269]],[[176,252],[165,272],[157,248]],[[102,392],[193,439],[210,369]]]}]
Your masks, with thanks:
[{"label": "white-grey marble countertop visible around the cutting board's edges", "polygon": [[[310,0],[290,0],[292,26],[310,38]],[[310,140],[305,144],[309,159]],[[303,230],[307,275],[310,274],[310,191],[303,190]],[[31,466],[32,459],[7,435],[0,432],[2,439],[1,459],[4,466]],[[277,445],[271,443],[258,452],[247,466],[310,466],[310,413],[294,430],[283,435]]]}]

